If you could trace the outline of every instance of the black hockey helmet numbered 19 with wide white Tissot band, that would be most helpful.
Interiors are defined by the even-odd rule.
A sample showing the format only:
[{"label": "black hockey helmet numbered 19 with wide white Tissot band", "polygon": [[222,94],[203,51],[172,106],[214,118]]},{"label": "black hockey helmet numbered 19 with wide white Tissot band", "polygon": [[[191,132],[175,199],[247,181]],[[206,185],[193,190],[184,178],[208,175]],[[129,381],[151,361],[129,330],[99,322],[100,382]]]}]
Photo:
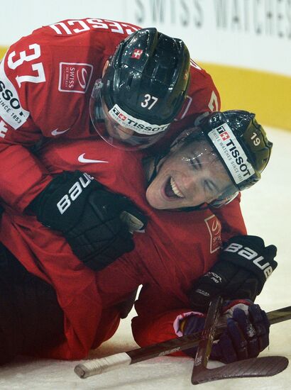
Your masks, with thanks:
[{"label": "black hockey helmet numbered 19 with wide white Tissot band", "polygon": [[231,110],[212,113],[201,125],[239,191],[260,179],[273,147],[254,113]]}]

